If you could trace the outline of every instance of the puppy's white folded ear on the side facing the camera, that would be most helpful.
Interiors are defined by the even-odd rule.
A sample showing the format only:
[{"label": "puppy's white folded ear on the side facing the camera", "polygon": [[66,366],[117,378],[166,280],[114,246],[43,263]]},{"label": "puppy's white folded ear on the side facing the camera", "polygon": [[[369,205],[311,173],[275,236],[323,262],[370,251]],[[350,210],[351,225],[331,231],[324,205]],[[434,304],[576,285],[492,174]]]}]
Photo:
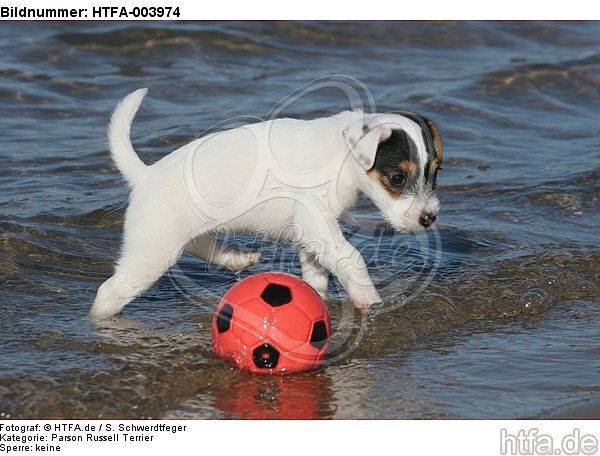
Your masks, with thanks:
[{"label": "puppy's white folded ear on the side facing the camera", "polygon": [[343,134],[352,155],[365,170],[369,170],[375,163],[379,143],[388,139],[392,134],[392,130],[385,125],[375,123],[372,126],[367,125],[365,120],[362,115],[360,118],[353,120]]}]

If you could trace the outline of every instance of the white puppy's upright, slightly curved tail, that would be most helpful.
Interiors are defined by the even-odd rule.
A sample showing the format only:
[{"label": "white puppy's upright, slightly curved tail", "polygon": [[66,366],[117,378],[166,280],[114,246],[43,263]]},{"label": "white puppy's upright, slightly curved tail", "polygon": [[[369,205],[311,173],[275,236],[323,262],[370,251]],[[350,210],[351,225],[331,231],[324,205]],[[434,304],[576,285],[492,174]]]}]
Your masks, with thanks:
[{"label": "white puppy's upright, slightly curved tail", "polygon": [[133,118],[148,89],[138,89],[127,95],[115,108],[108,124],[108,148],[115,166],[133,187],[146,174],[148,167],[133,150],[130,131]]}]

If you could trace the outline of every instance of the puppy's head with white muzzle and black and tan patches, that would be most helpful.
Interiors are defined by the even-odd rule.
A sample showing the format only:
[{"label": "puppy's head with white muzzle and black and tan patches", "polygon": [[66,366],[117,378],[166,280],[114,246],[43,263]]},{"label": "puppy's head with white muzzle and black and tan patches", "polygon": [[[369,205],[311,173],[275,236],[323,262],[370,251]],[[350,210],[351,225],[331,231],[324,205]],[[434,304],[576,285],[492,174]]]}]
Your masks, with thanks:
[{"label": "puppy's head with white muzzle and black and tan patches", "polygon": [[414,233],[433,225],[442,142],[431,120],[408,112],[361,114],[344,137],[364,171],[361,189],[394,228]]}]

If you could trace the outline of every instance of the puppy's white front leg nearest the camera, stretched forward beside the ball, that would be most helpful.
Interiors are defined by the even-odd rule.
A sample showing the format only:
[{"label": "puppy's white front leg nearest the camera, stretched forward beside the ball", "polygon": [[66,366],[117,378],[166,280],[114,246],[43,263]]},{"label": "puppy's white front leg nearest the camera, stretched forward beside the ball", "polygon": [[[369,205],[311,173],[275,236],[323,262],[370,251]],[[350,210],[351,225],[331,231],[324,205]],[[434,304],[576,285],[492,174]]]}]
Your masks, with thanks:
[{"label": "puppy's white front leg nearest the camera, stretched forward beside the ball", "polygon": [[315,221],[307,215],[297,216],[302,251],[312,253],[318,263],[337,276],[355,307],[366,309],[381,302],[365,261],[344,238],[337,220],[332,217]]}]

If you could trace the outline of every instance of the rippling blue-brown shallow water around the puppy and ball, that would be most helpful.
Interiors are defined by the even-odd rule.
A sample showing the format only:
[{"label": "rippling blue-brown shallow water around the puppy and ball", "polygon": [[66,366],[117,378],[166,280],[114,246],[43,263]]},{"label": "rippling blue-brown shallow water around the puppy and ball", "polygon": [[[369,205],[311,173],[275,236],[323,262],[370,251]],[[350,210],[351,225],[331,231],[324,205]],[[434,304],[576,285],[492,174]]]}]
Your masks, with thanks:
[{"label": "rippling blue-brown shallow water around the puppy and ball", "polygon": [[[4,23],[0,37],[1,417],[600,416],[599,23]],[[127,200],[104,143],[116,102],[150,88],[133,137],[151,163],[332,74],[445,140],[437,234],[393,234],[368,201],[347,219],[387,311],[361,320],[332,283],[346,355],[285,378],[233,371],[210,322],[238,277],[188,256],[89,323]],[[346,107],[324,91],[286,114]],[[286,246],[236,242],[263,250],[254,271],[299,272]]]}]

